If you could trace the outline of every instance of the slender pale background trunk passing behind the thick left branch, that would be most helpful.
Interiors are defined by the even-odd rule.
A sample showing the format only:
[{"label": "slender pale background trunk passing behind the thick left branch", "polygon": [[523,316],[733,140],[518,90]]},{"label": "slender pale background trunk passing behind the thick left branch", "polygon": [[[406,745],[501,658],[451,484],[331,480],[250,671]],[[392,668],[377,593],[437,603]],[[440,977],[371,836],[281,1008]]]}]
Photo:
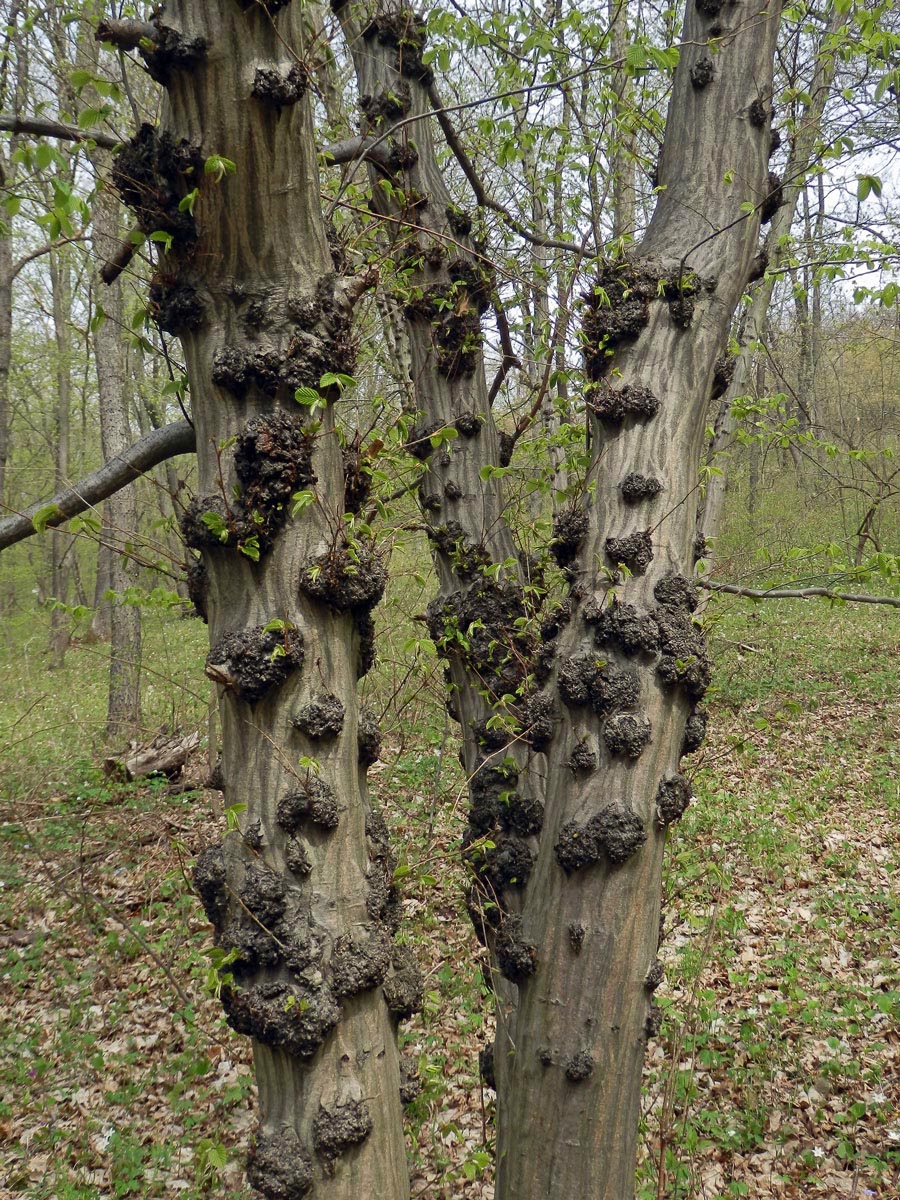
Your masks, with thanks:
[{"label": "slender pale background trunk passing behind the thick left branch", "polygon": [[[101,162],[97,151],[97,166]],[[103,155],[108,160],[108,155]],[[94,253],[98,272],[110,262],[120,246],[119,202],[112,191],[101,187],[94,199]],[[121,338],[121,283],[115,280],[107,288],[97,280],[106,319],[94,331],[94,356],[97,366],[100,397],[100,443],[103,460],[109,462],[132,443],[128,428],[128,384],[125,378],[125,346]],[[101,541],[106,563],[97,563],[98,577],[108,571],[109,589],[114,593],[109,610],[109,698],[107,736],[122,738],[140,726],[140,608],[126,602],[126,592],[137,587],[139,571],[128,545],[138,532],[138,497],[134,485],[122,488],[106,502],[103,523],[107,535]]]}]

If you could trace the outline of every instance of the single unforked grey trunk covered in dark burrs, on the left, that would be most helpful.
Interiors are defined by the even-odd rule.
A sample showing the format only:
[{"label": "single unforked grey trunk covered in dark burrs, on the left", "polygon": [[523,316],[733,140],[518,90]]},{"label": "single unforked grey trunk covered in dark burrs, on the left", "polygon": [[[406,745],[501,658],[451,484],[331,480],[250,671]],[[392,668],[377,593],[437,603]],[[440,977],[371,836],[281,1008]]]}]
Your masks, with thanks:
[{"label": "single unforked grey trunk covered in dark burrs, on the left", "polygon": [[[358,766],[371,761],[356,680],[384,568],[342,520],[334,395],[319,386],[353,368],[360,287],[335,274],[322,220],[295,70],[304,10],[173,0],[156,19],[170,31],[142,47],[167,90],[163,124],[125,148],[115,179],[142,228],[173,239],[151,300],[191,379],[199,482],[184,532],[202,559],[194,595],[221,686],[227,804],[246,805],[196,881],[218,946],[234,952],[226,1013],[253,1038],[248,1174],[272,1198],[314,1187],[322,1200],[397,1200],[408,1176],[395,1021],[418,997],[392,943],[392,863]],[[294,401],[298,388],[318,395],[317,410]],[[314,500],[292,520],[299,493]]]}]

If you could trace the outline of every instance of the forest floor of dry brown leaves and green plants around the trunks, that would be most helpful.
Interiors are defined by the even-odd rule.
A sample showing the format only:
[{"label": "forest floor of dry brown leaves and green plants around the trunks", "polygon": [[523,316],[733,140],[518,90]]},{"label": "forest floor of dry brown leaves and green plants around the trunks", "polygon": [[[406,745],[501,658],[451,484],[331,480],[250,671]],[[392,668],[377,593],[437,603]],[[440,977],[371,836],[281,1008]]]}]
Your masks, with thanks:
[{"label": "forest floor of dry brown leaves and green plants around the trunks", "polygon": [[[737,601],[710,614],[713,719],[668,848],[637,1195],[896,1198],[900,619]],[[424,1084],[413,1195],[488,1200],[491,1004],[462,905],[455,728],[436,664],[410,668],[384,619],[370,698],[400,707],[372,786],[427,972],[402,1034]],[[102,652],[74,644],[50,674],[44,636],[31,617],[0,643],[0,1198],[244,1200],[248,1046],[212,995],[190,888],[221,797],[104,779]],[[205,730],[203,636],[149,623],[150,732]],[[205,763],[192,769],[199,782]]]}]

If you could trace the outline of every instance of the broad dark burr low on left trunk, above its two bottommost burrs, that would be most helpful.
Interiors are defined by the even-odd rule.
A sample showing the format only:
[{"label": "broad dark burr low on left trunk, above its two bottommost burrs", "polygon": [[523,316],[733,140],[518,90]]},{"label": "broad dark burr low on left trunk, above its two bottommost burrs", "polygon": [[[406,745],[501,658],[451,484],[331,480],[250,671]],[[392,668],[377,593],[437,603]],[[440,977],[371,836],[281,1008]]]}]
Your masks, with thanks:
[{"label": "broad dark burr low on left trunk, above its two bottommost burrs", "polygon": [[223,988],[222,1006],[236,1033],[308,1058],[341,1019],[341,1009],[325,986],[268,980],[250,988]]}]

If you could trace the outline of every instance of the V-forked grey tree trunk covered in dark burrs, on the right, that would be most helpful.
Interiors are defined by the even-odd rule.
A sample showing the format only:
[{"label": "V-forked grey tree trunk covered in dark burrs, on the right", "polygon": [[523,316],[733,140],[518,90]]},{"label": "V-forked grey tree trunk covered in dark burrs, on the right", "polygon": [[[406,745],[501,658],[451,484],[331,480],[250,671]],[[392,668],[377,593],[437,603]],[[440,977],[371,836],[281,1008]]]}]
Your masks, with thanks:
[{"label": "V-forked grey tree trunk covered in dark burrs, on the right", "polygon": [[[392,181],[428,197],[404,214],[374,186],[372,204],[408,221],[410,263],[432,264],[414,265],[406,310],[424,413],[414,450],[427,458],[420,497],[440,584],[430,629],[450,670],[470,778],[472,912],[498,994],[496,1194],[624,1200],[655,1020],[665,826],[689,799],[677,767],[685,730],[691,748],[702,737],[691,707],[709,672],[690,619],[695,512],[683,502],[714,361],[756,248],[758,216],[742,217],[740,204],[761,205],[769,190],[768,116],[749,112],[772,86],[778,19],[742,20],[720,43],[715,82],[700,89],[691,70],[712,18],[689,10],[665,190],[640,251],[599,281],[612,308],[598,301],[586,326],[599,482],[589,506],[558,515],[552,548],[571,594],[545,614],[539,637],[539,589],[517,565],[500,484],[485,470],[511,448],[484,395],[482,262],[446,206],[431,143],[424,23],[382,11],[366,24],[349,6],[340,16],[360,94],[376,101],[373,132],[394,124],[398,143],[414,142]],[[408,103],[389,113],[378,97],[396,96],[401,78]],[[722,146],[740,190],[724,181]],[[428,454],[428,433],[449,425],[460,433],[452,454]],[[628,568],[620,577],[617,562]]]}]

